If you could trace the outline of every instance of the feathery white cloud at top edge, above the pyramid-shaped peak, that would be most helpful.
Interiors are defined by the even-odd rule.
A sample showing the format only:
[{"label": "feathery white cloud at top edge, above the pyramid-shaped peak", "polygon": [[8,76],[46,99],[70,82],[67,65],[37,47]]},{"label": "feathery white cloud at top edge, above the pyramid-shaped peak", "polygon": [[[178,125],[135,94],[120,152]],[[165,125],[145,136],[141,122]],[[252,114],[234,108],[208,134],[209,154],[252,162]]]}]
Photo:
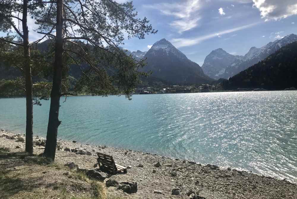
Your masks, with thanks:
[{"label": "feathery white cloud at top edge, above the pyramid-shaped peak", "polygon": [[173,16],[175,19],[169,23],[179,33],[198,26],[200,16],[198,10],[201,5],[199,0],[186,0],[176,3],[157,3],[144,5],[146,8],[159,10],[163,15]]}]

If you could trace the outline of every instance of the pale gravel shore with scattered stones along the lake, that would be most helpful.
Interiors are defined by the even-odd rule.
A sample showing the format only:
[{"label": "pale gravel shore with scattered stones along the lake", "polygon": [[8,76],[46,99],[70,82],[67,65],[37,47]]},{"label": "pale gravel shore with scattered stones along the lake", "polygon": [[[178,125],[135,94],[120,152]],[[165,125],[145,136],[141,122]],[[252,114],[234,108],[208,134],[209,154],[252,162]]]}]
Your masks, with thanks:
[{"label": "pale gravel shore with scattered stones along the lake", "polygon": [[[25,137],[1,129],[0,147],[8,147],[12,152],[23,151],[25,143],[22,138]],[[37,143],[44,139],[34,136],[34,142]],[[65,151],[68,149],[76,149],[77,153]],[[44,147],[34,145],[34,154],[43,151]],[[79,154],[79,151],[86,151],[86,154]],[[74,162],[80,168],[93,168],[97,163],[96,152],[111,155],[117,164],[131,167],[128,167],[126,174],[109,176],[109,179],[120,182],[137,182],[138,192],[131,194],[131,198],[190,198],[187,194],[190,190],[196,192],[196,195],[199,192],[200,198],[207,199],[297,198],[297,185],[286,180],[108,146],[58,140],[55,162]],[[160,167],[154,166],[157,162]],[[173,189],[180,194],[172,195]],[[108,187],[108,191],[124,194],[116,187]]]}]

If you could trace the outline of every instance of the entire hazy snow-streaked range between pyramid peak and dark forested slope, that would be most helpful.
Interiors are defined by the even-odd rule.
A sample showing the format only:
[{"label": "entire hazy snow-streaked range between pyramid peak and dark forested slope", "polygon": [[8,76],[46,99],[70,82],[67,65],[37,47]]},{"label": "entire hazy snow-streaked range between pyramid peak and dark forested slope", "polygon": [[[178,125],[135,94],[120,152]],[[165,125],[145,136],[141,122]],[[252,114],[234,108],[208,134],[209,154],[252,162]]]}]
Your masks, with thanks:
[{"label": "entire hazy snow-streaked range between pyramid peak and dark forested slope", "polygon": [[244,56],[234,56],[219,48],[206,56],[202,69],[211,78],[216,80],[219,78],[227,79],[296,40],[297,35],[290,34],[280,40],[269,42],[261,48],[252,47]]}]

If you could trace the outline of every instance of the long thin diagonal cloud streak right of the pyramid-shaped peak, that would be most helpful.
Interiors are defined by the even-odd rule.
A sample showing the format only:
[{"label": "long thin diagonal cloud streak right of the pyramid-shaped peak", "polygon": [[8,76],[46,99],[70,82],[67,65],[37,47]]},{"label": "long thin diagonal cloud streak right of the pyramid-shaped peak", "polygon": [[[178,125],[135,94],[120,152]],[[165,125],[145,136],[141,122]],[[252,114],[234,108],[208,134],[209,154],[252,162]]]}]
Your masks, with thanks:
[{"label": "long thin diagonal cloud streak right of the pyramid-shaped peak", "polygon": [[171,40],[171,43],[176,47],[176,48],[180,48],[180,47],[185,47],[185,46],[191,46],[191,45],[195,45],[198,44],[204,40],[208,40],[214,37],[217,37],[218,35],[223,35],[223,34],[228,34],[231,32],[235,32],[235,31],[239,31],[242,29],[247,29],[249,27],[255,26],[258,23],[252,23],[246,26],[240,26],[237,28],[233,28],[233,29],[229,29],[229,30],[225,30],[225,31],[220,31],[220,32],[216,32],[216,33],[211,33],[208,35],[203,35],[201,37],[195,37],[195,38],[175,38]]}]

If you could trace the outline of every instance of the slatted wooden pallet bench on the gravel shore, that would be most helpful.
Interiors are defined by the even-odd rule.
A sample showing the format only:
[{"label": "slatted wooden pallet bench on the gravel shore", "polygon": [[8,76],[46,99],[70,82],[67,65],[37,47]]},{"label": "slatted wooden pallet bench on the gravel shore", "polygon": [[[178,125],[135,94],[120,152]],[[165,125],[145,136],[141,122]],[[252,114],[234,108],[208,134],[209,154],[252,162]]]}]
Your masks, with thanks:
[{"label": "slatted wooden pallet bench on the gravel shore", "polygon": [[122,173],[122,172],[127,173],[127,168],[116,164],[112,156],[99,153],[99,152],[97,152],[97,156],[98,156],[97,162],[101,170],[108,171],[112,174]]}]

